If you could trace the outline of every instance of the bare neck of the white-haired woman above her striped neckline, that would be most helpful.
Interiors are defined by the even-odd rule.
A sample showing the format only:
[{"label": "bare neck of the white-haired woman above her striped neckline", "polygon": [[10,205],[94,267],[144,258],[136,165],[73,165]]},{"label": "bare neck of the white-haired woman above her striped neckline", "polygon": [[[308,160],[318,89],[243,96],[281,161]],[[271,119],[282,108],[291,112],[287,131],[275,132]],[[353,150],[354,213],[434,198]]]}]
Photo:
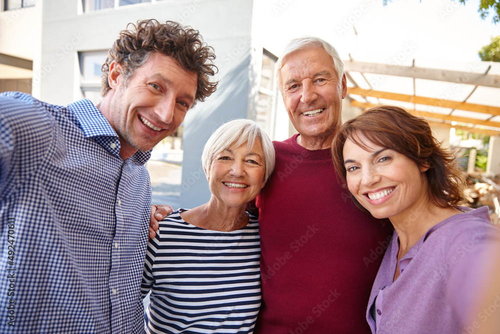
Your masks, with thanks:
[{"label": "bare neck of the white-haired woman above her striped neckline", "polygon": [[248,223],[245,208],[246,205],[241,207],[224,205],[212,195],[208,203],[183,212],[181,217],[191,225],[207,230],[234,231]]}]

